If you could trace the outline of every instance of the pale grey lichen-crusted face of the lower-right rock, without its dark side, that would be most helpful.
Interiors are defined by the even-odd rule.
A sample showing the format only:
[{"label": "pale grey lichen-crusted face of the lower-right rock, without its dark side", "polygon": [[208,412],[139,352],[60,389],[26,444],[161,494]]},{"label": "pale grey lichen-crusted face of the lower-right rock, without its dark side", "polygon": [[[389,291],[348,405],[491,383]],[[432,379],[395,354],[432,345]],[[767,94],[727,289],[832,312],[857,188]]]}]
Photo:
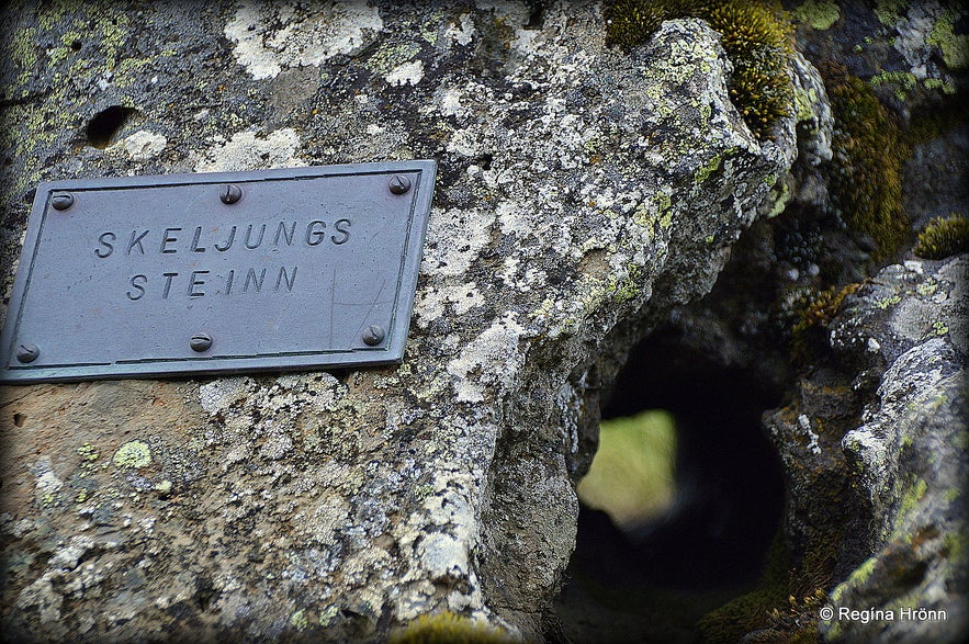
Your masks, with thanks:
[{"label": "pale grey lichen-crusted face of the lower-right rock, without its dark side", "polygon": [[940,642],[969,626],[967,269],[966,255],[890,265],[832,325],[835,350],[883,369],[863,425],[842,439],[877,520],[868,526],[874,554],[833,590],[832,603],[946,617],[833,623],[823,631],[829,641]]}]

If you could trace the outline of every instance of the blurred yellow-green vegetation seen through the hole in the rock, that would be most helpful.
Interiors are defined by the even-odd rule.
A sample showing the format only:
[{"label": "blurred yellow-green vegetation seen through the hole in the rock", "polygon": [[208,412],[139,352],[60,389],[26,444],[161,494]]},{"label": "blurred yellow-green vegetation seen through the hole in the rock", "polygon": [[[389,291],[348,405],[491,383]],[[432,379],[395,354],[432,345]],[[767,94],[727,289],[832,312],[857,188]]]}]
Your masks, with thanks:
[{"label": "blurred yellow-green vegetation seen through the hole in the rock", "polygon": [[676,495],[676,422],[651,409],[599,425],[599,451],[578,498],[623,529],[655,518]]}]

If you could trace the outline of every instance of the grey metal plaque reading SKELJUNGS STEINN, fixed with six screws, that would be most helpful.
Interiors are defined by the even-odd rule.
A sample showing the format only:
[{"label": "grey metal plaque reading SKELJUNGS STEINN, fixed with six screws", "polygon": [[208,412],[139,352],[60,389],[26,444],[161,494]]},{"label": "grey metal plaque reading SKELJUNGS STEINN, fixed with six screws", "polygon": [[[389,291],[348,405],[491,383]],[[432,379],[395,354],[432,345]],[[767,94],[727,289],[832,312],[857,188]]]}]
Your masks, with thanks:
[{"label": "grey metal plaque reading SKELJUNGS STEINN, fixed with six screws", "polygon": [[437,165],[43,183],[0,381],[398,362]]}]

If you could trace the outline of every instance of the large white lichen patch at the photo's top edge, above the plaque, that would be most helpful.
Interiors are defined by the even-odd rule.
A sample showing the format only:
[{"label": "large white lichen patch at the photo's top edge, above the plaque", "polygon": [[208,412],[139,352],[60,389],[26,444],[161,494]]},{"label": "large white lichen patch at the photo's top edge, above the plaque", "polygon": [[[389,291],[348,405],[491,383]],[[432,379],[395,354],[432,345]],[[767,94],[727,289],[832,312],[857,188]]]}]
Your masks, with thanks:
[{"label": "large white lichen patch at the photo's top edge, above the plaque", "polygon": [[357,54],[383,30],[380,11],[369,3],[324,2],[293,7],[245,2],[225,26],[236,60],[256,80],[283,68],[320,65],[339,54]]}]

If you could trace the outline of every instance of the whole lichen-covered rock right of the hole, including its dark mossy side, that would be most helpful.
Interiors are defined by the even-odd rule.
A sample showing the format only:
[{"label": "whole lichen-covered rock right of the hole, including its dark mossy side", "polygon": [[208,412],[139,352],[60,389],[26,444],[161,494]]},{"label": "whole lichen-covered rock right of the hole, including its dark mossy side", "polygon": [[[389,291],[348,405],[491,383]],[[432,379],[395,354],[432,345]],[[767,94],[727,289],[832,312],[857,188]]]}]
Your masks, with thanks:
[{"label": "whole lichen-covered rock right of the hole, including its dark mossy side", "polygon": [[766,417],[798,568],[835,584],[824,641],[961,641],[967,268],[966,255],[910,260],[847,295],[829,328],[836,362]]}]

